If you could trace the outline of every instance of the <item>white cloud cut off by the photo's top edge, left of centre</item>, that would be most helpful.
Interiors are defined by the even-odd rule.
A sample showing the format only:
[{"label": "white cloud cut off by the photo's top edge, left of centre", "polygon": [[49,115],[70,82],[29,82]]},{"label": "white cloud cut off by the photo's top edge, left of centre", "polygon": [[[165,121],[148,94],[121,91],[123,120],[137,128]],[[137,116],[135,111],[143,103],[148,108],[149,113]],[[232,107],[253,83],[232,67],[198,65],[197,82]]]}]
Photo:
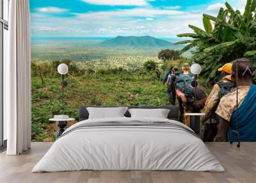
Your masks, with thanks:
[{"label": "white cloud cut off by the photo's top edge, left of centre", "polygon": [[81,0],[88,4],[109,5],[109,6],[147,6],[145,0]]}]

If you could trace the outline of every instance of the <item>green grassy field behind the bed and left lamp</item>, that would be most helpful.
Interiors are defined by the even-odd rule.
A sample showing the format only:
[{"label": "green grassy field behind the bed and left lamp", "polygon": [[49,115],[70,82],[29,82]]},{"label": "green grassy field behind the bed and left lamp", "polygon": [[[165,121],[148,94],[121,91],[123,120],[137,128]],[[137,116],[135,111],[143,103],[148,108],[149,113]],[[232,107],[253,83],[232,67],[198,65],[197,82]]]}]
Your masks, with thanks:
[{"label": "green grassy field behind the bed and left lamp", "polygon": [[166,87],[147,72],[84,74],[66,77],[65,104],[61,103],[61,77],[47,76],[44,83],[32,77],[32,139],[54,141],[57,130],[49,118],[57,114],[78,119],[79,106],[168,105]]}]

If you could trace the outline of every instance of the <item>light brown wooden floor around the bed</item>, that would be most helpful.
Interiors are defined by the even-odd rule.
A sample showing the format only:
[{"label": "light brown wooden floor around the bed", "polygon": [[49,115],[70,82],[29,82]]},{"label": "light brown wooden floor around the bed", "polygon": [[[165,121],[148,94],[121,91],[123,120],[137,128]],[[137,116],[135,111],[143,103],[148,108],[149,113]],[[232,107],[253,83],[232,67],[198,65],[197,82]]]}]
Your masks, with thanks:
[{"label": "light brown wooden floor around the bed", "polygon": [[256,182],[256,143],[207,143],[226,172],[194,171],[65,171],[31,173],[52,143],[32,143],[31,150],[18,156],[0,154],[0,182]]}]

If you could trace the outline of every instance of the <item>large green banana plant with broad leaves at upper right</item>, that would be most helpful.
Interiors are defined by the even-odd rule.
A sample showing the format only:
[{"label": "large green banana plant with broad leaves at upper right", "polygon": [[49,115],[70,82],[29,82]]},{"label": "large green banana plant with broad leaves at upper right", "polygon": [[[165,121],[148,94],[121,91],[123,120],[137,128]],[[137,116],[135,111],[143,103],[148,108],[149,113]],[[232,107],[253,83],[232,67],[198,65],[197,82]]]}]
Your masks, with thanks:
[{"label": "large green banana plant with broad leaves at upper right", "polygon": [[189,25],[194,33],[177,35],[191,40],[175,43],[187,44],[182,52],[196,47],[192,61],[202,65],[208,81],[217,79],[217,69],[225,63],[242,57],[256,58],[256,0],[247,0],[243,14],[228,3],[225,6],[217,17],[203,15],[204,30]]}]

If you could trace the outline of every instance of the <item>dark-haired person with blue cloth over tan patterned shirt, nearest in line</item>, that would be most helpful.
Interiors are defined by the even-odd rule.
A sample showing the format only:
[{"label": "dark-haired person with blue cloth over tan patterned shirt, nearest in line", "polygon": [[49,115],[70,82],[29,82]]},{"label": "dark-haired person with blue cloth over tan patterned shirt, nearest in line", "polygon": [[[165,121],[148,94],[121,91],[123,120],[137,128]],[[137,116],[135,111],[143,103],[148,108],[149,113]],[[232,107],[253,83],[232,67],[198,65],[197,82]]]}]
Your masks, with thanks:
[{"label": "dark-haired person with blue cloth over tan patterned shirt, nearest in line", "polygon": [[234,61],[231,78],[236,88],[222,97],[216,110],[219,125],[215,141],[237,141],[235,133],[232,139],[232,131],[239,132],[241,141],[256,141],[256,85],[252,84],[252,76],[252,61]]}]

